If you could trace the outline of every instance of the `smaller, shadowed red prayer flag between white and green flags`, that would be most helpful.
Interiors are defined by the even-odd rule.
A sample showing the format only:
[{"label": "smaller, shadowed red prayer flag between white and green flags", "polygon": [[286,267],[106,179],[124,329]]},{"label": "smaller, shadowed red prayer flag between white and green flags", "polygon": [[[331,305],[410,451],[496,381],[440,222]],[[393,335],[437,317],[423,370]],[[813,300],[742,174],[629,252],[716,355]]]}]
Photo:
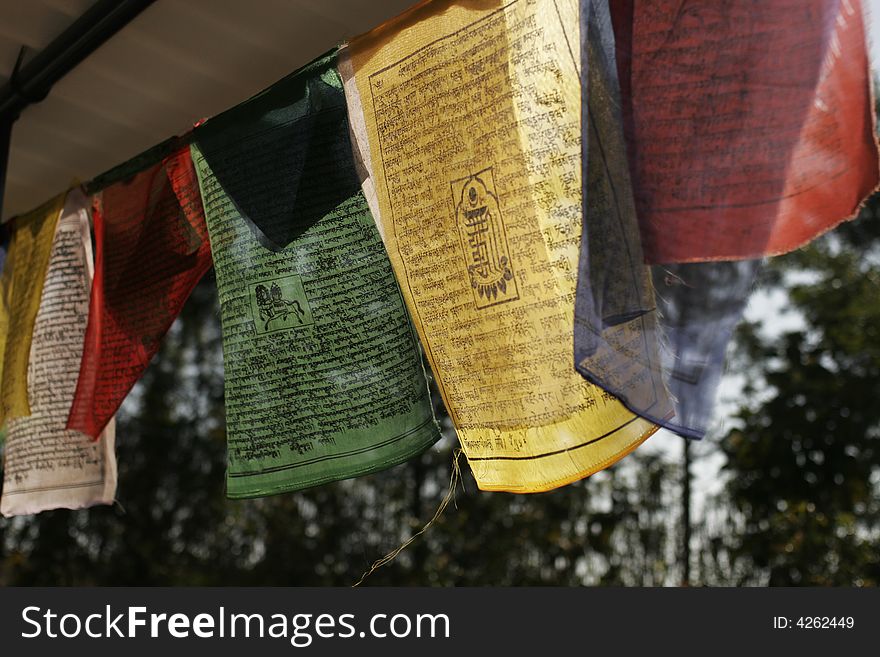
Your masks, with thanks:
[{"label": "smaller, shadowed red prayer flag between white and green flags", "polygon": [[189,148],[93,199],[95,280],[67,428],[97,438],[211,267]]}]

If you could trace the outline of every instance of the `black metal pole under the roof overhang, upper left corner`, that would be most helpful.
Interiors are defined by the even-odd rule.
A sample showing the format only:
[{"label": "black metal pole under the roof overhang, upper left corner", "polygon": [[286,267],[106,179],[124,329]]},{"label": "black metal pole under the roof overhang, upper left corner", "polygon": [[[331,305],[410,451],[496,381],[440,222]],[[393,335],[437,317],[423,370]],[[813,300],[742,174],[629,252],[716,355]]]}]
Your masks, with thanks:
[{"label": "black metal pole under the roof overhang, upper left corner", "polygon": [[155,0],[98,0],[29,62],[16,66],[0,87],[0,209],[6,188],[12,124],[21,111],[43,100],[73,70]]}]

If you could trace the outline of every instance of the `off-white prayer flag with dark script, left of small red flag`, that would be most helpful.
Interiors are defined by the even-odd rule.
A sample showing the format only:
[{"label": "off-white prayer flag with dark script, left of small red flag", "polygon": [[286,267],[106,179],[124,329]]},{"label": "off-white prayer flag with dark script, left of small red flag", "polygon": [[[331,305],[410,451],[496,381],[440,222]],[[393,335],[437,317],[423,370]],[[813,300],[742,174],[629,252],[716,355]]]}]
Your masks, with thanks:
[{"label": "off-white prayer flag with dark script, left of small red flag", "polygon": [[97,441],[65,429],[94,274],[89,206],[79,190],[71,191],[54,239],[49,235],[51,250],[27,365],[30,415],[6,424],[0,498],[4,516],[111,504],[116,493],[113,420]]}]

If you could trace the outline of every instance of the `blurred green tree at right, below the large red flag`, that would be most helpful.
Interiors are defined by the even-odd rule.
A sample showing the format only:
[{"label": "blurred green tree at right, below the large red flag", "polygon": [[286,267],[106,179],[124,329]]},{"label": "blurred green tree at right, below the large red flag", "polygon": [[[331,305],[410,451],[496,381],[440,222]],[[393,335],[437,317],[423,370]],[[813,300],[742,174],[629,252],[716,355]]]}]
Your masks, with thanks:
[{"label": "blurred green tree at right, below the large red flag", "polygon": [[802,326],[741,327],[753,401],[723,441],[731,507],[707,542],[732,583],[880,583],[878,213],[875,196],[859,221],[772,261],[766,284]]}]

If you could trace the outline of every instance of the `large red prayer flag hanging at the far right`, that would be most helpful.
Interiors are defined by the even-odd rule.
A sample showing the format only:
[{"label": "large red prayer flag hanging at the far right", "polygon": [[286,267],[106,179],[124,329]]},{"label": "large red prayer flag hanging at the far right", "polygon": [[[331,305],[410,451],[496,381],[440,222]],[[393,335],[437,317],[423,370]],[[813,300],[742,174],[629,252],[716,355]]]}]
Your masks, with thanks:
[{"label": "large red prayer flag hanging at the far right", "polygon": [[860,0],[611,4],[648,262],[790,251],[877,187]]}]

